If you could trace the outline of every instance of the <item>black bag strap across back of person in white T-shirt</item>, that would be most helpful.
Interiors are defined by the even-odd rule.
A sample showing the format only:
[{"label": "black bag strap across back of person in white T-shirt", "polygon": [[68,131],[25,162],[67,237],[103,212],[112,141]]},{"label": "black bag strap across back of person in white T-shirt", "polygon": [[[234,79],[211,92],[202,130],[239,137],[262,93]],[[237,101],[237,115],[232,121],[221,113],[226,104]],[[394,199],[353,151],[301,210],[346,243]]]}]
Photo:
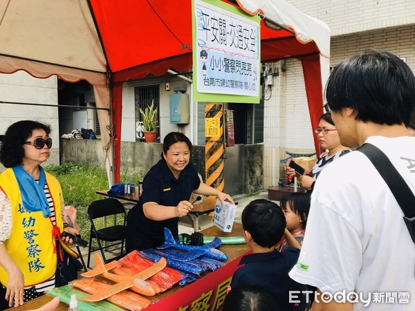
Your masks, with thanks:
[{"label": "black bag strap across back of person in white T-shirt", "polygon": [[400,208],[403,211],[403,220],[411,235],[412,241],[415,243],[415,196],[407,182],[400,176],[400,173],[395,169],[394,164],[378,147],[373,144],[363,144],[356,149],[365,154],[367,158],[374,164],[374,167],[380,173],[380,176],[385,180],[392,194],[398,201]]}]

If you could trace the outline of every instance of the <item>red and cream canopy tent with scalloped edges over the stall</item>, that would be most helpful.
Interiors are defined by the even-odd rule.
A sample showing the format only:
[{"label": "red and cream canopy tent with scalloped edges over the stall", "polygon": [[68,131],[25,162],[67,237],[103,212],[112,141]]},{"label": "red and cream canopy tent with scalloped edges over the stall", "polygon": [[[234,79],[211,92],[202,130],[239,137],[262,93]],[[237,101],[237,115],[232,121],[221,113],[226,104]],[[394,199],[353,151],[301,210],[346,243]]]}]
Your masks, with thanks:
[{"label": "red and cream canopy tent with scalloped edges over the stall", "polygon": [[[289,57],[302,62],[311,124],[317,126],[329,73],[329,28],[282,0],[233,2],[293,30],[271,30],[261,21],[261,62]],[[103,146],[111,145],[111,135],[114,141],[106,159],[107,167],[116,167],[111,182],[120,173],[123,82],[191,67],[191,0],[0,2],[0,73],[25,70],[34,77],[92,84],[96,106],[108,109],[98,110],[98,117]],[[105,126],[111,119],[113,133]],[[318,151],[317,141],[315,147]]]}]

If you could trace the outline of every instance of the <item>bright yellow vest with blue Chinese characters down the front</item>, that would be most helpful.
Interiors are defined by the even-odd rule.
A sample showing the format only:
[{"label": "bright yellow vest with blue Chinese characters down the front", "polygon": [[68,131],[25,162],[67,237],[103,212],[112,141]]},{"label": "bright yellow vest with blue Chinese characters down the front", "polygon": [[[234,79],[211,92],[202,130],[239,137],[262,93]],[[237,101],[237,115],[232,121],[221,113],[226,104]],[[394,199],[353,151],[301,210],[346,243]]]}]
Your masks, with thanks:
[{"label": "bright yellow vest with blue Chinese characters down the front", "polygon": [[[55,205],[56,224],[62,232],[62,189],[57,179],[49,173],[46,173],[46,183]],[[25,286],[42,283],[55,274],[57,267],[52,220],[44,217],[42,211],[29,212],[24,208],[12,169],[0,174],[0,187],[12,206],[12,234],[4,241],[4,246],[23,272]],[[2,267],[0,282],[4,286],[8,284],[8,274]]]}]

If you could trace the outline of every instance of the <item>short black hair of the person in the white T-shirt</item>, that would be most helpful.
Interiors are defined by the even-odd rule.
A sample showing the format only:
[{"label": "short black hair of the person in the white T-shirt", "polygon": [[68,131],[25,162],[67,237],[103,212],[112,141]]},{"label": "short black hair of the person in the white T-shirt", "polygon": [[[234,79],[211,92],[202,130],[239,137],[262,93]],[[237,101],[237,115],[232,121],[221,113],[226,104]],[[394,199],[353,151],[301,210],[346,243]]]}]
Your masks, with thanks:
[{"label": "short black hair of the person in the white T-shirt", "polygon": [[415,76],[402,59],[366,50],[337,66],[326,86],[332,111],[357,110],[356,120],[409,126],[415,105]]}]

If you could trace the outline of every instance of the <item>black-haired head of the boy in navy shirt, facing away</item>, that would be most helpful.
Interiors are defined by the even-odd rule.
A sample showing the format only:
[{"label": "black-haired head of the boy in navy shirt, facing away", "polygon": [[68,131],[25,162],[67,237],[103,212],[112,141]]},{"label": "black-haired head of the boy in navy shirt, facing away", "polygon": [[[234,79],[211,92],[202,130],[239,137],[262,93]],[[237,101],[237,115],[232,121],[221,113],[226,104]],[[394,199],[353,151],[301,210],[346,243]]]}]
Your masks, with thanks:
[{"label": "black-haired head of the boy in navy shirt, facing away", "polygon": [[286,228],[286,218],[277,204],[259,199],[250,202],[242,212],[242,227],[261,247],[270,248],[281,240]]}]

